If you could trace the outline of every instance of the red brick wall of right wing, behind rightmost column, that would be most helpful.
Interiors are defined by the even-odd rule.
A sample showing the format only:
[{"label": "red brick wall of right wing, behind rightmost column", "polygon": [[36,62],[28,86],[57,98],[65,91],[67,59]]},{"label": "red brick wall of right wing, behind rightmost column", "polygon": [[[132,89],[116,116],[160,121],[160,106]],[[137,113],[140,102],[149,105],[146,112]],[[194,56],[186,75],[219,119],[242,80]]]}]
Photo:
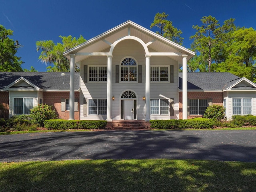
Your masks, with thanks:
[{"label": "red brick wall of right wing, behind rightmost column", "polygon": [[[223,94],[222,92],[188,92],[189,99],[212,99],[212,104],[223,105]],[[182,92],[179,92],[179,115],[182,119]],[[188,119],[198,117],[198,115],[190,115]],[[202,115],[199,115],[202,117]]]}]

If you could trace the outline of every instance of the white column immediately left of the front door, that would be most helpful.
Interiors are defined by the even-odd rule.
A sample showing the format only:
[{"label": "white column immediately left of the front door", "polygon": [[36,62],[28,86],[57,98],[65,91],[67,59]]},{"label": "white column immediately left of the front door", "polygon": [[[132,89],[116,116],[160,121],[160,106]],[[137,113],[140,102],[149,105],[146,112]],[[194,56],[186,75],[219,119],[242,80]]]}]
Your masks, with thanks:
[{"label": "white column immediately left of the front door", "polygon": [[108,56],[107,67],[107,121],[112,121],[112,56]]}]

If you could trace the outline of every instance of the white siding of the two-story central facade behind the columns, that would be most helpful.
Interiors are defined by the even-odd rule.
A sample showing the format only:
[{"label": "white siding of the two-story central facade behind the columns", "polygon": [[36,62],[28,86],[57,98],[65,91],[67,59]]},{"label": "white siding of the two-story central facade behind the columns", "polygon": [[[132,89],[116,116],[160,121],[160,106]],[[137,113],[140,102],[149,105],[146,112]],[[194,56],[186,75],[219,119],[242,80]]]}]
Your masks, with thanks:
[{"label": "white siding of the two-story central facade behind the columns", "polygon": [[[104,51],[103,51],[104,52]],[[108,50],[106,50],[108,52]],[[142,66],[142,83],[138,82],[119,82],[116,83],[116,65],[120,65],[122,59],[125,57],[132,57],[136,60],[137,66]],[[142,45],[134,40],[124,40],[120,42],[114,49],[112,58],[112,95],[115,100],[112,101],[112,119],[120,120],[121,118],[121,95],[126,90],[132,90],[137,96],[137,119],[145,119],[145,101],[143,96],[145,96],[145,51]],[[106,116],[83,116],[83,98],[88,99],[106,99],[106,88],[107,83],[99,82],[88,82],[84,84],[84,65],[106,65],[106,56],[92,56],[81,62],[80,68],[80,119],[96,120],[96,119],[106,119]],[[170,66],[174,65],[174,83],[152,83],[151,82],[151,98],[174,98],[174,116],[166,115],[154,115],[151,119],[178,119],[179,115],[179,102],[178,102],[178,63],[166,56],[152,56],[150,58],[150,65],[154,66]],[[137,68],[138,71],[138,68]],[[120,76],[120,75],[119,75]],[[138,79],[138,76],[137,76]]]}]

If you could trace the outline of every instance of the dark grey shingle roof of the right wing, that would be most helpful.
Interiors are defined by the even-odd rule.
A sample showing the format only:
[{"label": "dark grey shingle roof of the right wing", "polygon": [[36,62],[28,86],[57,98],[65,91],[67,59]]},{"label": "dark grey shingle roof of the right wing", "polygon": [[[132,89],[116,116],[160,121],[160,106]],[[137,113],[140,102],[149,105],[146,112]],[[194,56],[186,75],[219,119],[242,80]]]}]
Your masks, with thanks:
[{"label": "dark grey shingle roof of the right wing", "polygon": [[[188,90],[224,90],[240,80],[228,72],[188,72]],[[182,72],[179,73],[179,89],[182,90]]]}]

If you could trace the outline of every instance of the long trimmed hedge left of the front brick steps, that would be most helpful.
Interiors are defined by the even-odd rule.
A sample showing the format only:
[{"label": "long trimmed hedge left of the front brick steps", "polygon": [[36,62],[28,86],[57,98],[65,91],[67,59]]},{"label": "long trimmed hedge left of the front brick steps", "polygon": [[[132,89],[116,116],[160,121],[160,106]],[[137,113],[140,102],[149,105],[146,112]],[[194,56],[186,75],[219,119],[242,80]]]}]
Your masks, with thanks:
[{"label": "long trimmed hedge left of the front brick steps", "polygon": [[45,120],[44,127],[47,129],[104,129],[107,122],[104,120]]}]

